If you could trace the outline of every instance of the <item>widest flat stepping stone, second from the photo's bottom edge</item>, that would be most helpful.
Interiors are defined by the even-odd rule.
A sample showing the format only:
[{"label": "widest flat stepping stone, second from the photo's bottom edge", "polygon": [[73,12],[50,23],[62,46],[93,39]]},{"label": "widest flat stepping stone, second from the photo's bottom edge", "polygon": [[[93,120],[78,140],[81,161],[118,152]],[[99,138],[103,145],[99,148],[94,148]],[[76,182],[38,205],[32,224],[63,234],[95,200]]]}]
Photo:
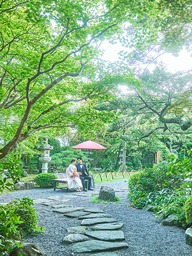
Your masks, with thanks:
[{"label": "widest flat stepping stone, second from the photo's bottom edge", "polygon": [[98,240],[90,240],[86,242],[80,242],[72,245],[72,249],[77,252],[94,252],[94,251],[113,251],[122,248],[127,248],[126,243],[114,243],[114,242],[105,242]]}]

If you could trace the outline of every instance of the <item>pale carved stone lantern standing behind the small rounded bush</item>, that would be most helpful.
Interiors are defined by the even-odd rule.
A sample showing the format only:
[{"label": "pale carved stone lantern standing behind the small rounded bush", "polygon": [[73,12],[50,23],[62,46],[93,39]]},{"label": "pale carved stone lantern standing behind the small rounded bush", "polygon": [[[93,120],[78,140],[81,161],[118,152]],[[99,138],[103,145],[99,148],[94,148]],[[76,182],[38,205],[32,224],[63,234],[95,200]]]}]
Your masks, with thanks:
[{"label": "pale carved stone lantern standing behind the small rounded bush", "polygon": [[51,161],[51,157],[49,156],[50,150],[53,149],[53,146],[48,144],[48,138],[44,138],[45,144],[38,146],[38,150],[41,152],[41,156],[39,157],[39,161],[42,163],[41,173],[45,174],[48,170],[48,162]]}]

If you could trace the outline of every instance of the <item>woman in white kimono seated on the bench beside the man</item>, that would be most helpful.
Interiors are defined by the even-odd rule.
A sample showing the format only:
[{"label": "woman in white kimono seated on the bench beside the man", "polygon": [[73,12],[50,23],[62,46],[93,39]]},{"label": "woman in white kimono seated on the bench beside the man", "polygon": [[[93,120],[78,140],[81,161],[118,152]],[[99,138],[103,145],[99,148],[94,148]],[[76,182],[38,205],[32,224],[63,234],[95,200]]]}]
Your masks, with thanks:
[{"label": "woman in white kimono seated on the bench beside the man", "polygon": [[75,164],[76,160],[72,159],[71,164],[66,169],[68,188],[75,189],[77,192],[81,192],[80,188],[82,188],[82,183]]}]

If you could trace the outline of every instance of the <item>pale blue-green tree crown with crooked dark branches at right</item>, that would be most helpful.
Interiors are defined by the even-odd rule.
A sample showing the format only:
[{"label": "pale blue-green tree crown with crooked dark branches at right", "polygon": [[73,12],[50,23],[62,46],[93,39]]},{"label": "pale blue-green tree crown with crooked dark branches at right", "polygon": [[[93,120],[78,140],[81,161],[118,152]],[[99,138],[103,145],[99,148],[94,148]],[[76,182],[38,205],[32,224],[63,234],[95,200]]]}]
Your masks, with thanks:
[{"label": "pale blue-green tree crown with crooked dark branches at right", "polygon": [[[99,111],[118,111],[122,118],[115,121],[110,131],[126,131],[135,125],[145,125],[145,134],[135,138],[140,141],[157,131],[180,133],[192,125],[191,101],[185,98],[191,87],[190,73],[171,74],[164,68],[156,68],[139,76],[141,88],[129,84],[129,94],[113,101],[101,103],[95,108]],[[186,104],[187,103],[187,104]],[[178,108],[180,106],[180,108]],[[151,125],[153,124],[153,125]]]}]

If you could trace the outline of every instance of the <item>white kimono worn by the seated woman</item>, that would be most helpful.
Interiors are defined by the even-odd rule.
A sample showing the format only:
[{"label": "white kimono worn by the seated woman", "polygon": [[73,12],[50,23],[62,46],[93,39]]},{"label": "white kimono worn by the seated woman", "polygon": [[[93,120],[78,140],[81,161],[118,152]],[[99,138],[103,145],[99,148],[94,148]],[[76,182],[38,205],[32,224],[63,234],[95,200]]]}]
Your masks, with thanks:
[{"label": "white kimono worn by the seated woman", "polygon": [[67,181],[68,181],[68,188],[69,189],[76,189],[76,188],[81,188],[82,183],[79,178],[79,174],[77,173],[77,177],[72,177],[71,176],[74,174],[75,170],[77,170],[76,166],[73,164],[70,164],[69,167],[66,169],[66,174],[67,174]]}]

